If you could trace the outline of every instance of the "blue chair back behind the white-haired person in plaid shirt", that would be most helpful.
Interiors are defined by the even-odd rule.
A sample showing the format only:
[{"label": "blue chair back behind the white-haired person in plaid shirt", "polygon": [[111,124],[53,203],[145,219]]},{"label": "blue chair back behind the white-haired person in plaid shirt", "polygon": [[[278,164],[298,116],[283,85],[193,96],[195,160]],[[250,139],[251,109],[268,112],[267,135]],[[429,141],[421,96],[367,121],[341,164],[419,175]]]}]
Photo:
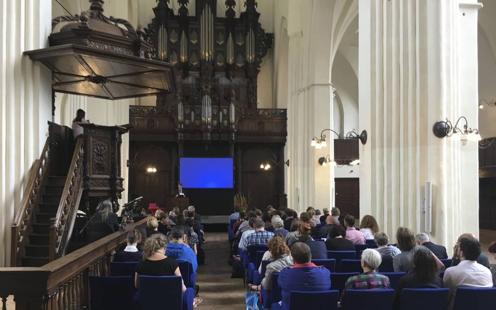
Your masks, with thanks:
[{"label": "blue chair back behind the white-haired person in plaid shirt", "polygon": [[384,310],[393,307],[394,290],[347,290],[345,309]]}]

